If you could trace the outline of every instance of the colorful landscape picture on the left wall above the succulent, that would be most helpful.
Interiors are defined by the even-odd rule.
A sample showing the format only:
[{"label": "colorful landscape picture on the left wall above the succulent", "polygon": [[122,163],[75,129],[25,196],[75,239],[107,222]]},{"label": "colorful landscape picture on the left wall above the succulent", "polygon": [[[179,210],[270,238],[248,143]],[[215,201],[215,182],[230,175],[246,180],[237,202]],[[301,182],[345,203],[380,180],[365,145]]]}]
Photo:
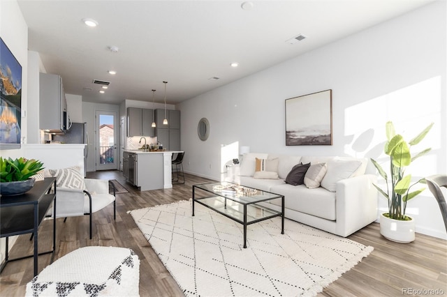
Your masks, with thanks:
[{"label": "colorful landscape picture on the left wall above the succulent", "polygon": [[0,38],[0,149],[20,148],[22,66]]}]

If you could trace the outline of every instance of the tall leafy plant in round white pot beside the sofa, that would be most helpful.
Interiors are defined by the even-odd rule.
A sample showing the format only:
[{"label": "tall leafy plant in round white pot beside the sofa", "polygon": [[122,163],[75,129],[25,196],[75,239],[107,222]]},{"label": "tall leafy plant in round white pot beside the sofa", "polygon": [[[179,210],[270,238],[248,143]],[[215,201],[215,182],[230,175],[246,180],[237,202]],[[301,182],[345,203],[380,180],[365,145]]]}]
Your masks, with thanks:
[{"label": "tall leafy plant in round white pot beside the sofa", "polygon": [[[410,148],[418,144],[432,128],[433,123],[427,126],[416,137],[409,142],[404,140],[402,135],[395,133],[392,122],[386,123],[386,137],[384,152],[390,156],[390,179],[388,174],[379,165],[379,163],[371,158],[372,164],[376,167],[379,174],[386,181],[386,190],[382,190],[378,185],[374,185],[377,190],[388,199],[388,213],[382,213],[380,216],[380,232],[383,236],[391,241],[400,243],[410,243],[415,238],[414,218],[406,215],[406,203],[423,192],[425,188],[413,189],[413,186],[419,183],[425,183],[425,178],[421,178],[411,184],[411,174],[405,175],[405,169],[411,162],[422,155],[425,155],[431,148],[425,148],[420,153],[411,155]],[[391,186],[391,188],[390,188]]]}]

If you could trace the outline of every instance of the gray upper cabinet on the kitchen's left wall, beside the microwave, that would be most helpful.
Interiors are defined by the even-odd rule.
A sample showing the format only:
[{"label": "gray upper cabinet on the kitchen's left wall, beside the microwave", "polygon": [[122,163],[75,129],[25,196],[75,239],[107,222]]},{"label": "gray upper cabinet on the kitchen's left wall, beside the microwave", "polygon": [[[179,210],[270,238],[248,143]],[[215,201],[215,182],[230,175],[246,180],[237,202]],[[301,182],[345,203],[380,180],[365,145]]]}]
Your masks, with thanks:
[{"label": "gray upper cabinet on the kitchen's left wall, beside the microwave", "polygon": [[39,128],[46,132],[67,130],[68,114],[60,75],[39,75]]}]

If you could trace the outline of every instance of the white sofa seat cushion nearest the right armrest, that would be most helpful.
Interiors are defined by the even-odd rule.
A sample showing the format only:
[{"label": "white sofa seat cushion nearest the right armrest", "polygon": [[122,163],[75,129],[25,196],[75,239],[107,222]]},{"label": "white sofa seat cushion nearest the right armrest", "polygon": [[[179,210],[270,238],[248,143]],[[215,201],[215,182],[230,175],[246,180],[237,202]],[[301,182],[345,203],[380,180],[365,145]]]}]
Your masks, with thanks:
[{"label": "white sofa seat cushion nearest the right armrest", "polygon": [[[284,206],[293,211],[307,213],[326,220],[336,220],[336,195],[323,188],[308,189],[305,185],[273,185],[270,192],[284,195]],[[281,205],[279,199],[271,201]]]}]

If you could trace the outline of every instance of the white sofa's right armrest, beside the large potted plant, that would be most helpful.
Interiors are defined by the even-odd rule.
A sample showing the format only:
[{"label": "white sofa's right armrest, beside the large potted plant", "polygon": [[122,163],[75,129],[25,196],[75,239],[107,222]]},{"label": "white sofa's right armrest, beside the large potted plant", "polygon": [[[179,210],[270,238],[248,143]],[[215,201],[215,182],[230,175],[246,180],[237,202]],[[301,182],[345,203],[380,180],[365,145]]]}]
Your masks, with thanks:
[{"label": "white sofa's right armrest, beside the large potted plant", "polygon": [[337,234],[346,237],[377,219],[377,177],[365,174],[337,183]]}]

